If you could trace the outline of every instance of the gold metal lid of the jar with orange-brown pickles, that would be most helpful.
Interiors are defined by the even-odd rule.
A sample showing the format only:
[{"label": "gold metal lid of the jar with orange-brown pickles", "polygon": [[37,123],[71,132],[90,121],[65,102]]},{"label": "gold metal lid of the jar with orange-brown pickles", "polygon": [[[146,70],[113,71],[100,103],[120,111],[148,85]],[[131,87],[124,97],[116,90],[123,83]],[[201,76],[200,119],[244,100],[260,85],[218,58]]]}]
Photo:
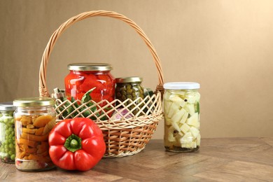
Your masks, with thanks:
[{"label": "gold metal lid of the jar with orange-brown pickles", "polygon": [[13,105],[19,107],[52,106],[54,104],[54,99],[50,97],[30,97],[13,101]]}]

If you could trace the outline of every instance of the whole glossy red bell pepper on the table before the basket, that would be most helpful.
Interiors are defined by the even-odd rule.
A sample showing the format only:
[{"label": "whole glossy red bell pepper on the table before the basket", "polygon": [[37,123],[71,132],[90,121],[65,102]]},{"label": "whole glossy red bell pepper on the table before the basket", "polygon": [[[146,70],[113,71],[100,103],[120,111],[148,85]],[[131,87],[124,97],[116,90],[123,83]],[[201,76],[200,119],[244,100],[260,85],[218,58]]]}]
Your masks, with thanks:
[{"label": "whole glossy red bell pepper on the table before the basket", "polygon": [[51,130],[48,143],[52,162],[67,170],[91,169],[106,150],[102,130],[89,118],[60,121]]}]

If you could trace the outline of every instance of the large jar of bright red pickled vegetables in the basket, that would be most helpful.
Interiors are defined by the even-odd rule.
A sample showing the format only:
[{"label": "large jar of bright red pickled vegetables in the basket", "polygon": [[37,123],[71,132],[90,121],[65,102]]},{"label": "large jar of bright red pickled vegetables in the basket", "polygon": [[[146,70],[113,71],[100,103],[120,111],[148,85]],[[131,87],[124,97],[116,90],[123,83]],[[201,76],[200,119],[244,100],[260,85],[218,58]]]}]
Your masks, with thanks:
[{"label": "large jar of bright red pickled vegetables in the basket", "polygon": [[[94,102],[115,99],[115,78],[111,75],[111,64],[73,63],[68,65],[69,74],[64,79],[65,93],[68,99],[82,99],[90,89],[96,87],[90,96]],[[106,103],[100,104],[104,106]]]}]

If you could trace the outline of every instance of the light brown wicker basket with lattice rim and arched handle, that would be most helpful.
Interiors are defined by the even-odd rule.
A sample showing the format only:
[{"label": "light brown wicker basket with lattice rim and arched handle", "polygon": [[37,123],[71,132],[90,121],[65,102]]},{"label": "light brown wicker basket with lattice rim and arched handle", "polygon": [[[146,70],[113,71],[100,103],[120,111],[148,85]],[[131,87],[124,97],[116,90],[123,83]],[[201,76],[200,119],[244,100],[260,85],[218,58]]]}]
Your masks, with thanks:
[{"label": "light brown wicker basket with lattice rim and arched handle", "polygon": [[[118,20],[122,20],[123,22],[127,22],[133,29],[137,31],[137,33],[143,38],[144,42],[148,46],[151,54],[153,55],[153,60],[155,62],[155,66],[158,70],[158,78],[159,83],[155,89],[153,96],[147,96],[144,99],[140,99],[137,101],[132,101],[127,99],[125,102],[130,102],[129,105],[125,106],[125,102],[120,102],[119,100],[114,100],[113,102],[106,102],[106,105],[101,107],[99,103],[94,103],[93,106],[97,106],[97,111],[92,112],[90,107],[85,104],[82,104],[80,107],[82,109],[75,110],[73,113],[73,117],[83,117],[84,111],[90,111],[90,116],[87,118],[96,118],[93,119],[99,128],[104,133],[104,141],[106,142],[106,153],[104,158],[118,158],[127,155],[134,155],[143,150],[148,144],[148,141],[151,139],[153,132],[158,125],[158,122],[162,119],[162,92],[163,92],[163,76],[162,76],[162,67],[160,64],[160,59],[158,58],[151,41],[148,39],[144,31],[132,20],[126,18],[124,15],[120,15],[115,12],[106,11],[106,10],[94,10],[85,13],[80,13],[76,15],[66,22],[64,22],[50,37],[48,45],[46,45],[45,51],[43,52],[43,57],[41,60],[40,67],[40,75],[39,75],[39,93],[40,97],[50,97],[48,93],[48,88],[46,85],[46,69],[48,60],[50,57],[50,53],[59,38],[59,36],[71,25],[74,23],[84,20],[85,18],[90,18],[94,16],[104,16],[110,18],[116,18]],[[76,101],[80,102],[80,101]],[[62,102],[57,99],[55,104],[55,111],[57,112],[57,121],[65,119],[62,113],[66,111],[69,107],[76,107],[74,104],[76,102],[71,103],[66,100]],[[91,101],[92,102],[92,101]],[[120,106],[123,109],[127,109],[130,107],[130,111],[126,116],[121,117],[120,119],[116,119],[117,115],[121,115],[123,111],[118,109]],[[102,116],[97,117],[96,113],[103,111],[106,107],[110,107],[111,109],[104,113]],[[133,108],[133,109],[132,109]],[[134,115],[132,111],[137,110],[138,112]],[[109,117],[109,113],[114,113],[113,116]],[[107,120],[101,120],[102,117],[106,116]],[[69,118],[71,116],[66,116]]]}]

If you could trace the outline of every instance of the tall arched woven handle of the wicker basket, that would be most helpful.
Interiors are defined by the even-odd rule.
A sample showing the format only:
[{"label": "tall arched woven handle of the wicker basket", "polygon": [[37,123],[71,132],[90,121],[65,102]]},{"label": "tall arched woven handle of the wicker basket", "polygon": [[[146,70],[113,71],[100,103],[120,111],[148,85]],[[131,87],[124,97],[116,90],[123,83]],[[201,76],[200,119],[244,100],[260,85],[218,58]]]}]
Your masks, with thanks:
[{"label": "tall arched woven handle of the wicker basket", "polygon": [[118,20],[122,20],[123,22],[127,22],[128,25],[130,25],[132,28],[134,28],[135,31],[137,31],[137,33],[144,40],[144,42],[148,46],[151,54],[153,55],[153,60],[155,62],[155,66],[158,71],[158,78],[159,78],[158,81],[159,82],[158,82],[158,85],[157,85],[155,91],[163,92],[164,91],[164,89],[163,89],[164,82],[163,82],[162,66],[160,63],[160,59],[158,57],[158,54],[155,52],[155,48],[153,47],[151,41],[146,36],[144,31],[135,22],[133,22],[129,18],[125,17],[124,15],[120,15],[120,14],[113,12],[113,11],[92,10],[92,11],[88,11],[85,13],[80,13],[79,15],[76,15],[76,16],[70,18],[69,20],[64,22],[61,26],[59,26],[59,28],[56,31],[54,31],[54,33],[50,37],[50,40],[48,41],[48,45],[46,45],[45,51],[43,52],[43,57],[42,57],[41,66],[40,66],[40,72],[39,72],[40,73],[40,75],[39,75],[40,97],[50,97],[50,94],[48,93],[48,87],[46,85],[46,69],[47,69],[47,64],[48,64],[48,60],[50,57],[50,53],[51,53],[52,49],[54,48],[54,45],[55,45],[57,39],[59,38],[59,36],[61,36],[61,34],[68,27],[70,27],[74,23],[79,22],[80,20],[84,20],[85,18],[90,18],[90,17],[94,17],[94,16],[104,16],[104,17],[111,17],[111,18],[116,18]]}]

